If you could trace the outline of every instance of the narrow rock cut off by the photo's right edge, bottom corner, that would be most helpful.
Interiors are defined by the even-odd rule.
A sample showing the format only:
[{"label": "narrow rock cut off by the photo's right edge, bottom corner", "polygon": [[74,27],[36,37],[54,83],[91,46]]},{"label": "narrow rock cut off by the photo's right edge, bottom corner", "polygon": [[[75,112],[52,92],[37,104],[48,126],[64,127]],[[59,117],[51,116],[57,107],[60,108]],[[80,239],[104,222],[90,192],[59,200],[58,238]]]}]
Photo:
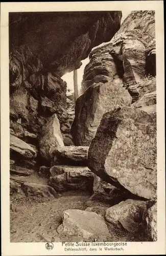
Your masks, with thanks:
[{"label": "narrow rock cut off by the photo's right edge, bottom corner", "polygon": [[148,209],[146,223],[147,235],[152,239],[152,241],[157,241],[157,203]]}]

